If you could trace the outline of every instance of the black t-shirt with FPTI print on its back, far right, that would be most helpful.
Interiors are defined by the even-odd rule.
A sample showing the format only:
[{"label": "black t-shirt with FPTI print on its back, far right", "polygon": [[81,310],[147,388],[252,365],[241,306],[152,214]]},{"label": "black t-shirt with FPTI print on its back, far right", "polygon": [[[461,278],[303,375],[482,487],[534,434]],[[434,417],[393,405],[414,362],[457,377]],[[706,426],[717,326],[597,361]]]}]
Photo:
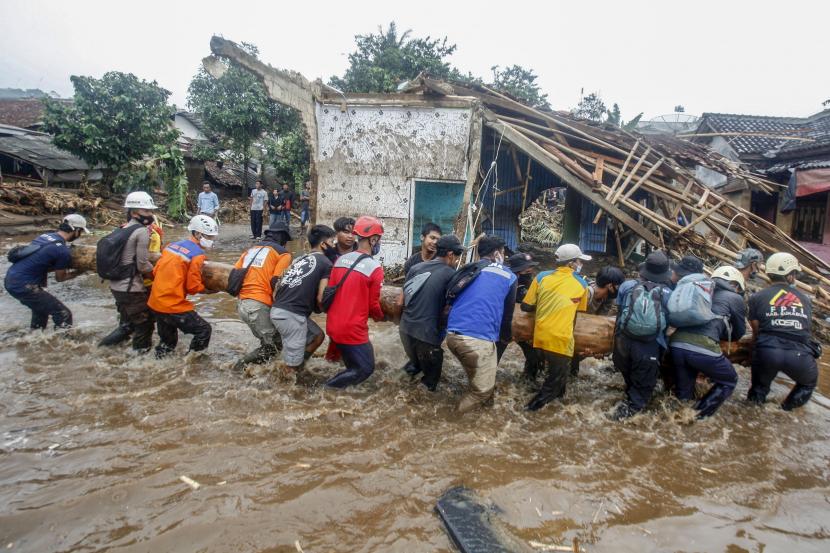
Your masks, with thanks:
[{"label": "black t-shirt with FPTI print on its back, far right", "polygon": [[773,284],[749,298],[749,320],[758,321],[759,346],[792,348],[811,337],[813,304],[809,296],[787,284]]}]

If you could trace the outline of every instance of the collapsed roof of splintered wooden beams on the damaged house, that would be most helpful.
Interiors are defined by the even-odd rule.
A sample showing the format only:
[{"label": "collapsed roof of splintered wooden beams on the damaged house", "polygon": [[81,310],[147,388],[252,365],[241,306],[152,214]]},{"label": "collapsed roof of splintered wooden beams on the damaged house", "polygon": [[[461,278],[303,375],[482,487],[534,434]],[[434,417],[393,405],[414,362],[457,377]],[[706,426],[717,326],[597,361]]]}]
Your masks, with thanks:
[{"label": "collapsed roof of splintered wooden beams on the damaged house", "polygon": [[[250,56],[236,44],[213,37],[216,56],[230,59],[263,80],[271,97],[300,110],[316,155],[314,102],[365,101],[309,82],[302,75],[275,69]],[[210,58],[206,65],[210,64]],[[710,263],[733,263],[737,252],[755,247],[765,255],[792,252],[804,272],[818,285],[801,286],[830,309],[830,265],[807,251],[781,229],[742,209],[696,177],[698,168],[716,171],[753,190],[772,193],[779,187],[743,165],[711,149],[668,135],[639,135],[578,119],[569,113],[540,111],[483,85],[461,85],[421,75],[401,87],[405,95],[422,94],[436,101],[466,98],[484,124],[545,167],[575,192],[600,208],[595,222],[611,217],[609,227],[619,236],[630,229],[658,248],[691,251]],[[380,95],[373,95],[375,97]],[[384,95],[390,100],[403,94]],[[377,98],[375,98],[377,100]],[[645,194],[638,201],[635,193]],[[826,287],[826,289],[822,288]]]}]

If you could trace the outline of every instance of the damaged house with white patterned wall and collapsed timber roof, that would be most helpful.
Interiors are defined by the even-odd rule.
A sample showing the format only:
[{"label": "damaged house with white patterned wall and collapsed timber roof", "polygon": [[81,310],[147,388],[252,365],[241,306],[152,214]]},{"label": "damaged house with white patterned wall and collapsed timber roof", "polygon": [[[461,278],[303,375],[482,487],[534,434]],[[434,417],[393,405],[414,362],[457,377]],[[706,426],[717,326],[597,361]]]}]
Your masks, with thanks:
[{"label": "damaged house with white patterned wall and collapsed timber roof", "polygon": [[[748,246],[786,250],[815,282],[802,286],[822,302],[830,298],[830,265],[700,175],[726,175],[767,194],[777,184],[703,145],[595,125],[481,85],[423,75],[398,94],[343,94],[266,65],[225,39],[214,37],[211,49],[299,111],[312,151],[317,219],[382,218],[385,265],[402,263],[418,246],[427,219],[466,243],[494,232],[516,249],[523,215],[541,198],[548,207],[564,202],[562,240],[620,264],[645,247],[694,252],[710,266],[733,262]],[[213,74],[224,67],[215,57],[204,63]]]}]

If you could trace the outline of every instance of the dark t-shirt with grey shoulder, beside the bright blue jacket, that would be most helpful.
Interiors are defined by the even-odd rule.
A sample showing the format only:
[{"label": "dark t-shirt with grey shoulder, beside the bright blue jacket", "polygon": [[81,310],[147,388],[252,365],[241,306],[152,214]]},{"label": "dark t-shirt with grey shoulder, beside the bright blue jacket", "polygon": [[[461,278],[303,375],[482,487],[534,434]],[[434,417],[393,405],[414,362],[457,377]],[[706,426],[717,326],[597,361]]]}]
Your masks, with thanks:
[{"label": "dark t-shirt with grey shoulder, beside the bright blue jacket", "polygon": [[[442,259],[433,259],[414,267],[406,275],[404,294],[417,288],[407,300],[401,316],[401,332],[422,342],[441,345],[443,333],[438,330],[438,319],[444,308],[447,284],[455,270]],[[420,286],[419,286],[420,285]]]}]

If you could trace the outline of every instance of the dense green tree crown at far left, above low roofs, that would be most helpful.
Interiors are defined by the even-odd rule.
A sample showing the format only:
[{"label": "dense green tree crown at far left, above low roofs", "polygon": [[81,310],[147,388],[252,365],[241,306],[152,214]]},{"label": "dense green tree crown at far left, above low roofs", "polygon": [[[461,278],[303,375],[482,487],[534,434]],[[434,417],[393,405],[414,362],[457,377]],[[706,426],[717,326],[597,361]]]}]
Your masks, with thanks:
[{"label": "dense green tree crown at far left, above low roofs", "polygon": [[172,145],[178,131],[170,122],[170,92],[155,81],[111,71],[101,79],[72,76],[74,102],[45,99],[45,131],[55,145],[90,166],[117,172],[151,155],[158,145]]}]

